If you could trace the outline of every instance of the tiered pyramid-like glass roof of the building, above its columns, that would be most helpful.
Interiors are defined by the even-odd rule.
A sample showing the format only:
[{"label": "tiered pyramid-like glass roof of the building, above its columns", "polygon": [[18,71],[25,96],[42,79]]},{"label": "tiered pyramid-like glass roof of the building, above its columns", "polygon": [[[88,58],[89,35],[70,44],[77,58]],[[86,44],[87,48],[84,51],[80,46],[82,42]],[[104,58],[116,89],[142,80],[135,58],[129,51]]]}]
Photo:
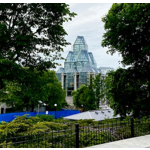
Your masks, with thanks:
[{"label": "tiered pyramid-like glass roof of the building, above its columns", "polygon": [[88,45],[83,36],[77,36],[73,44],[73,51],[68,52],[64,68],[64,70],[59,69],[57,73],[101,72],[101,69],[97,69],[92,52],[88,52]]}]

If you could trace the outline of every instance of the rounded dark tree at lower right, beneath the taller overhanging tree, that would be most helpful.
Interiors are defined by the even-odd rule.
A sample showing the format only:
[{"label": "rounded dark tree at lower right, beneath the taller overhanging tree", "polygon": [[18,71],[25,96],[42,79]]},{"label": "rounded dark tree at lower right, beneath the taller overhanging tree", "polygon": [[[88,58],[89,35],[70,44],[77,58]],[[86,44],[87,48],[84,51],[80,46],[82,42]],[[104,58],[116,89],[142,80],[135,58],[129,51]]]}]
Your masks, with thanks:
[{"label": "rounded dark tree at lower right, beneath the taller overhanging tree", "polygon": [[150,114],[147,85],[137,80],[138,77],[134,76],[134,72],[119,68],[108,73],[105,78],[106,97],[114,110],[114,115],[126,117],[132,113],[134,117],[142,117]]}]

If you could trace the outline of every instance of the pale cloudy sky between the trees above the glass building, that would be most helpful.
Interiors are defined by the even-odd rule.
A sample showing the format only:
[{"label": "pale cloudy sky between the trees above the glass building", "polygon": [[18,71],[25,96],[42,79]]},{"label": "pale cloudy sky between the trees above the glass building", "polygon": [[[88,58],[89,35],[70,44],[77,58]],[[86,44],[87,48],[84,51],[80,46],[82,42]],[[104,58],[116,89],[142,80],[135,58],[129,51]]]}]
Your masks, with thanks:
[{"label": "pale cloudy sky between the trees above the glass building", "polygon": [[[88,44],[88,51],[92,52],[97,62],[97,67],[111,67],[114,70],[122,67],[119,61],[122,57],[118,53],[113,55],[107,54],[107,47],[102,47],[101,42],[103,39],[104,17],[112,6],[112,3],[67,3],[69,4],[70,12],[75,12],[77,15],[72,18],[72,21],[64,23],[64,29],[67,32],[65,39],[71,45],[64,47],[62,56],[66,58],[68,51],[72,50],[72,45],[77,36],[84,36]],[[58,63],[63,64],[62,61]],[[58,70],[59,67],[56,68]]]}]

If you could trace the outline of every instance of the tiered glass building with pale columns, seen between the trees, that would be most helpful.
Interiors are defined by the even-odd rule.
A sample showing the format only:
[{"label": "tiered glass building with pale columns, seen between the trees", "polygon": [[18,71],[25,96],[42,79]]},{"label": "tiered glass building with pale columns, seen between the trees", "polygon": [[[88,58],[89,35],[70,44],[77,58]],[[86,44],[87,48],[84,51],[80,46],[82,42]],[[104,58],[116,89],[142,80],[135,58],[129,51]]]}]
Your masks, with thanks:
[{"label": "tiered glass building with pale columns, seen between the trees", "polygon": [[[101,73],[102,77],[110,67],[97,68],[97,63],[92,52],[88,51],[88,45],[83,36],[77,36],[73,50],[68,52],[64,67],[60,67],[56,76],[66,90],[66,95],[71,96],[71,92],[77,90],[82,84],[88,82],[90,74],[95,77]],[[69,98],[70,99],[70,98]]]}]

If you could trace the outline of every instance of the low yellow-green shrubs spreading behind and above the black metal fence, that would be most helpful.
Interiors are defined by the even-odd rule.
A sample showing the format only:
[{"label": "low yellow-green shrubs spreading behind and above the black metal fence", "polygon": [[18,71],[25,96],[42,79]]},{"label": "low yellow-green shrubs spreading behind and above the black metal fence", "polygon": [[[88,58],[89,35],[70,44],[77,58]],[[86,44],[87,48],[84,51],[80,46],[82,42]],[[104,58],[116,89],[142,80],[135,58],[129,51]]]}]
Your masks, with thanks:
[{"label": "low yellow-green shrubs spreading behind and above the black metal fence", "polygon": [[[79,121],[54,119],[47,122],[39,116],[29,118],[24,115],[10,123],[1,122],[0,148],[74,148],[76,123],[79,124],[80,148],[131,137],[130,117],[123,120],[105,119],[101,122],[92,119]],[[147,117],[134,119],[134,133],[135,136],[150,134],[150,119]],[[6,137],[10,138],[7,139],[7,143]]]}]

